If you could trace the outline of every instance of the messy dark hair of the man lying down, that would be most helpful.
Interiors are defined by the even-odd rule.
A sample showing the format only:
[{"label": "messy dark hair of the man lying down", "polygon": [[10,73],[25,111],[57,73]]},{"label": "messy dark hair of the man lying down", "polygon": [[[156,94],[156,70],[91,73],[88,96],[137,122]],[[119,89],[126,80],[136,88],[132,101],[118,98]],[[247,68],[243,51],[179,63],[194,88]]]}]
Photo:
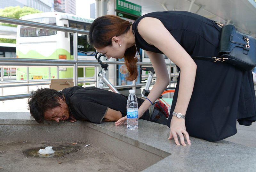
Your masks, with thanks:
[{"label": "messy dark hair of the man lying down", "polygon": [[61,93],[50,88],[39,88],[32,92],[28,99],[28,110],[38,123],[44,123],[44,113],[60,106],[59,98],[64,100]]}]

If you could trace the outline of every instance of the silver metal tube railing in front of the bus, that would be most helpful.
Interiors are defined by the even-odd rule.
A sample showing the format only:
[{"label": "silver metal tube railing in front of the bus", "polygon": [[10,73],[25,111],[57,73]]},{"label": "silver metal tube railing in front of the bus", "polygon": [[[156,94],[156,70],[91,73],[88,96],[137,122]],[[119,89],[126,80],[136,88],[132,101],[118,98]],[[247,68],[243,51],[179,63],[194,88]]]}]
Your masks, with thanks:
[{"label": "silver metal tube railing in front of the bus", "polygon": [[[27,67],[27,80],[21,80],[21,81],[5,81],[4,78],[4,70],[3,66],[44,66],[44,67],[50,67],[50,66],[56,66],[57,67],[57,79],[59,79],[59,66],[66,66],[70,67],[73,66],[73,80],[74,80],[74,86],[77,86],[78,83],[86,83],[86,82],[94,82],[95,86],[97,86],[97,74],[95,70],[94,79],[91,78],[79,78],[78,80],[78,66],[99,66],[100,64],[98,61],[85,61],[85,60],[77,60],[77,34],[84,34],[89,35],[88,30],[83,29],[77,29],[77,28],[71,28],[71,27],[65,27],[65,26],[56,26],[51,24],[44,24],[44,23],[38,23],[33,21],[27,21],[27,20],[20,20],[20,19],[13,19],[8,17],[0,16],[0,22],[1,23],[7,23],[7,24],[14,24],[14,25],[21,25],[21,26],[29,26],[29,27],[36,27],[41,29],[48,29],[48,30],[54,30],[54,31],[62,31],[62,32],[69,32],[74,33],[73,38],[73,49],[74,49],[74,60],[53,60],[53,59],[31,59],[31,58],[0,58],[0,67],[1,67],[1,82],[0,84],[16,84],[16,85],[2,85],[0,86],[0,89],[2,89],[3,94],[3,88],[5,87],[13,87],[13,86],[35,86],[35,85],[47,85],[50,84],[50,79],[44,79],[42,80],[29,80],[29,68]],[[108,64],[124,64],[124,62],[118,62],[118,61],[102,61],[103,63]],[[145,65],[145,66],[152,66],[151,63],[143,63],[138,62],[138,65]],[[166,64],[168,66],[169,74],[171,74],[171,67],[175,67],[175,64],[171,64],[171,61],[169,60],[169,63]],[[176,71],[176,70],[174,70]],[[50,75],[49,75],[50,76]],[[171,77],[177,77],[176,73],[174,72],[174,76]],[[89,79],[89,80],[88,80]],[[90,80],[93,79],[93,80]],[[40,82],[40,83],[31,83],[31,82]],[[171,81],[170,83],[174,83],[177,81]],[[23,84],[21,84],[23,83]],[[125,86],[115,86],[118,88],[130,88],[136,86],[145,86],[145,84],[135,84],[135,81],[132,85],[125,85]],[[104,87],[103,89],[107,89],[108,87]],[[8,95],[8,96],[0,96],[0,101],[4,100],[13,100],[13,99],[23,99],[28,98],[31,94],[17,94],[17,95]]]}]

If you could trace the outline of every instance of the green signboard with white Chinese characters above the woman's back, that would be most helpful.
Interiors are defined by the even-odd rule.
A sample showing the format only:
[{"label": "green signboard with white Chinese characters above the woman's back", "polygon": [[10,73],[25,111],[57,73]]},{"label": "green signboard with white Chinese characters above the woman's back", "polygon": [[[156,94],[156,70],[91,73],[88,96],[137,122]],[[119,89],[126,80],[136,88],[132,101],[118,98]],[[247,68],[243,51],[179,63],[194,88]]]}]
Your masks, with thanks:
[{"label": "green signboard with white Chinese characters above the woman's back", "polygon": [[116,0],[116,10],[141,16],[141,6],[125,0]]}]

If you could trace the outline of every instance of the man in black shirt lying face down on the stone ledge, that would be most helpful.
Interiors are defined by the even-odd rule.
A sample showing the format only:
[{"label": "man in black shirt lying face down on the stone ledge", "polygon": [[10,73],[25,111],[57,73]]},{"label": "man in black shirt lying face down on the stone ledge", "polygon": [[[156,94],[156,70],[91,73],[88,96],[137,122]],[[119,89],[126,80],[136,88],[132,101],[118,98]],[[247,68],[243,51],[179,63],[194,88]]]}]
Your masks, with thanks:
[{"label": "man in black shirt lying face down on the stone ledge", "polygon": [[[30,114],[36,122],[87,120],[92,123],[117,121],[126,116],[128,97],[95,87],[73,86],[58,92],[41,88],[28,99]],[[144,102],[137,98],[138,105]],[[149,112],[150,111],[150,112]],[[167,125],[168,110],[162,102],[152,105],[140,119]]]}]

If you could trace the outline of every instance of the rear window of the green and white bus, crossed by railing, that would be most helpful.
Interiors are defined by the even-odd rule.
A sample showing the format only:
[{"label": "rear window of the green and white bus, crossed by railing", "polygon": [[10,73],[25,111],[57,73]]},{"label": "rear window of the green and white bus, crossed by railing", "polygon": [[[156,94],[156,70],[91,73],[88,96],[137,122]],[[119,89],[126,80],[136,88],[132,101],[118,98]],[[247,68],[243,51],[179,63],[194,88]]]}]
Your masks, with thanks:
[{"label": "rear window of the green and white bus, crossed by railing", "polygon": [[[35,21],[39,23],[56,25],[55,17],[43,17],[36,19],[28,19],[28,21]],[[39,29],[34,27],[20,26],[20,37],[36,37],[36,36],[49,36],[57,34],[57,31]]]}]

